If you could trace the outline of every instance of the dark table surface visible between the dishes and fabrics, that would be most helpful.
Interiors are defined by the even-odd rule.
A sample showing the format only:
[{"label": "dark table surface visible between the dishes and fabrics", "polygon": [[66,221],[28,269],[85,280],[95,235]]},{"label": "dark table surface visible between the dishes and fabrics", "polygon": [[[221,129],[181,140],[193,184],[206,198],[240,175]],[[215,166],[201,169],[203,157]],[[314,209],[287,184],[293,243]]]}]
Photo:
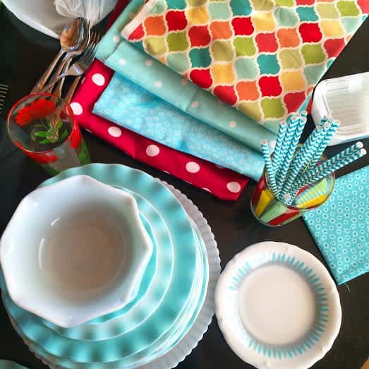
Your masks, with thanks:
[{"label": "dark table surface visible between the dishes and fabrics", "polygon": [[[11,87],[7,99],[7,108],[9,108],[17,99],[29,92],[56,54],[58,42],[20,23],[6,11],[4,6],[0,8],[0,35],[0,83],[7,83]],[[368,70],[369,21],[367,20],[324,78]],[[4,130],[4,115],[3,112],[3,119],[0,118],[0,233],[4,231],[18,202],[48,178],[48,174],[42,168],[8,142]],[[310,128],[313,126],[311,121],[309,126]],[[246,246],[267,240],[292,243],[322,260],[302,219],[297,219],[277,229],[267,228],[255,221],[249,206],[250,195],[255,186],[253,181],[243,191],[237,202],[223,202],[162,171],[136,162],[87,132],[84,133],[84,137],[92,162],[121,163],[142,169],[171,183],[193,200],[212,226],[222,258],[222,267]],[[368,140],[365,140],[364,144],[368,150]],[[347,145],[331,147],[328,155],[332,155],[345,146]],[[368,165],[368,159],[362,158],[348,169],[341,169],[338,176],[365,165]],[[356,240],[352,241],[356,242]],[[366,275],[338,287],[343,313],[341,331],[325,358],[314,365],[315,369],[358,369],[365,362],[369,348],[368,281],[368,275]],[[0,358],[17,361],[28,368],[46,368],[28,351],[27,346],[18,337],[1,304]],[[179,364],[178,368],[241,369],[252,367],[243,363],[229,349],[214,318],[198,347],[183,363]]]}]

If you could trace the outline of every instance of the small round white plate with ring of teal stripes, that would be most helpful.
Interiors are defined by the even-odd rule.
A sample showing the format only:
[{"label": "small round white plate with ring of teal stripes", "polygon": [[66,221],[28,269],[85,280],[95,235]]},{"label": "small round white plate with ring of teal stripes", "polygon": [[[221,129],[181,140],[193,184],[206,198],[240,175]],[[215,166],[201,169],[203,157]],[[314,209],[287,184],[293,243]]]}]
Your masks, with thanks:
[{"label": "small round white plate with ring of teal stripes", "polygon": [[341,326],[337,288],[313,255],[262,242],[238,253],[219,278],[220,329],[243,361],[262,369],[306,369],[332,347]]}]

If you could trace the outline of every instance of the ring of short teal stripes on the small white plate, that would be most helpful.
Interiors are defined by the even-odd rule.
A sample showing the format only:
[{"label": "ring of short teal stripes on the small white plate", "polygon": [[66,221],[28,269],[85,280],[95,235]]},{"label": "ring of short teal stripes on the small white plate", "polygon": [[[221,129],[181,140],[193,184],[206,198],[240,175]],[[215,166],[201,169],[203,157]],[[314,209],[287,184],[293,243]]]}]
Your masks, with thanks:
[{"label": "ring of short teal stripes on the small white plate", "polygon": [[264,267],[265,265],[280,265],[282,267],[287,267],[303,278],[310,287],[315,301],[315,321],[303,338],[298,339],[289,345],[279,346],[266,344],[265,342],[259,341],[253,337],[253,335],[247,331],[246,327],[243,329],[245,334],[243,339],[246,339],[250,349],[253,349],[266,358],[284,359],[302,355],[306,351],[312,349],[312,347],[320,341],[322,333],[325,332],[325,329],[329,324],[327,291],[320,283],[320,279],[315,274],[313,268],[295,257],[291,257],[284,253],[273,252],[269,255],[258,255],[257,258],[258,260],[255,261],[258,263],[258,267],[251,267],[250,264],[254,265],[253,262],[245,262],[244,265],[236,270],[228,288],[231,291],[238,293],[244,280],[259,267]]}]

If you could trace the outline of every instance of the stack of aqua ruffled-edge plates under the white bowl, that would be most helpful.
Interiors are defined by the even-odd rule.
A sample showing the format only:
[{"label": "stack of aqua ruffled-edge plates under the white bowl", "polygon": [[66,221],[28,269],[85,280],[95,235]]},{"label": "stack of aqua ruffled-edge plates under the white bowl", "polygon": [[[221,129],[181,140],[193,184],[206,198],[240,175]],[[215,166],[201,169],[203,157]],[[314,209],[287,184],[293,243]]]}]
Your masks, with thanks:
[{"label": "stack of aqua ruffled-edge plates under the white bowl", "polygon": [[135,198],[153,244],[138,294],[120,310],[62,328],[14,303],[1,283],[13,327],[52,368],[173,368],[192,351],[214,314],[217,244],[185,195],[142,171],[90,164],[41,186],[84,174]]}]

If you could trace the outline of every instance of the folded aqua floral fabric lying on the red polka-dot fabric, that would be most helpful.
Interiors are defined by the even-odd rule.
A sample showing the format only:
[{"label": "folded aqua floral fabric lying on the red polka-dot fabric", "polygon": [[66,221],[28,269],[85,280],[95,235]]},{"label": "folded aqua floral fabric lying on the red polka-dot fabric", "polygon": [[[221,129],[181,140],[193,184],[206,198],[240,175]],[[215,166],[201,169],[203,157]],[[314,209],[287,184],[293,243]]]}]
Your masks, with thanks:
[{"label": "folded aqua floral fabric lying on the red polka-dot fabric", "polygon": [[115,73],[93,112],[163,145],[233,169],[255,180],[264,160],[260,152],[238,143],[151,95]]}]

